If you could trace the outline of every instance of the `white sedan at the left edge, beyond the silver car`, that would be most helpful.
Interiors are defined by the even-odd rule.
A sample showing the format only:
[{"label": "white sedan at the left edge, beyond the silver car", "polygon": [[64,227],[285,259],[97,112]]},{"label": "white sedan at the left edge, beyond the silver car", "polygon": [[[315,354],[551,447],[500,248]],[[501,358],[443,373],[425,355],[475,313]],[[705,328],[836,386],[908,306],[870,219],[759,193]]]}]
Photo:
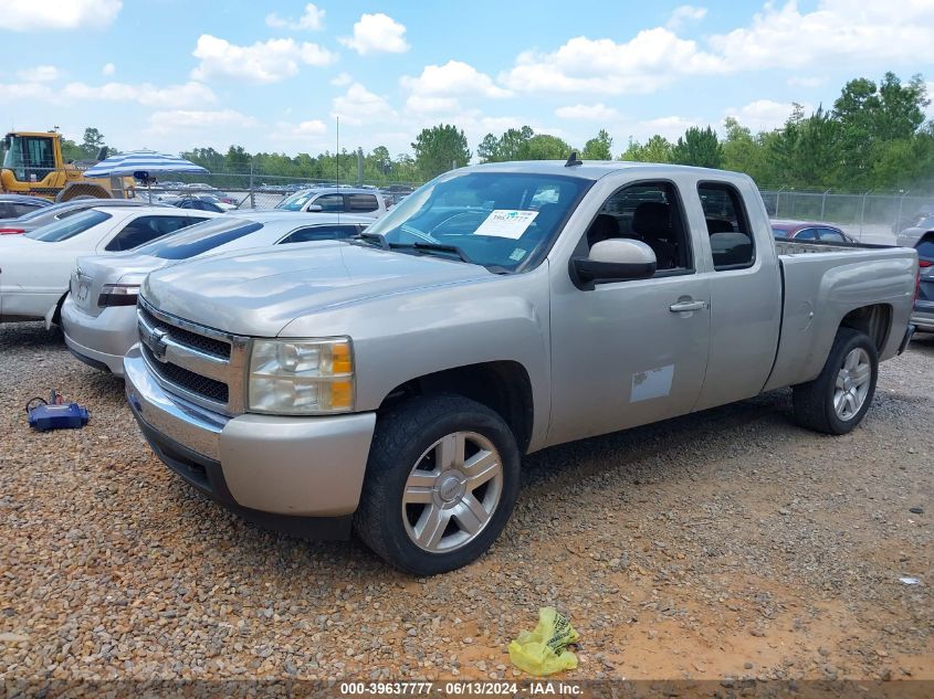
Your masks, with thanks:
[{"label": "white sedan at the left edge, beyond the silver car", "polygon": [[0,237],[0,321],[44,318],[49,327],[59,321],[78,257],[133,250],[217,215],[102,204],[23,235],[4,235]]}]

